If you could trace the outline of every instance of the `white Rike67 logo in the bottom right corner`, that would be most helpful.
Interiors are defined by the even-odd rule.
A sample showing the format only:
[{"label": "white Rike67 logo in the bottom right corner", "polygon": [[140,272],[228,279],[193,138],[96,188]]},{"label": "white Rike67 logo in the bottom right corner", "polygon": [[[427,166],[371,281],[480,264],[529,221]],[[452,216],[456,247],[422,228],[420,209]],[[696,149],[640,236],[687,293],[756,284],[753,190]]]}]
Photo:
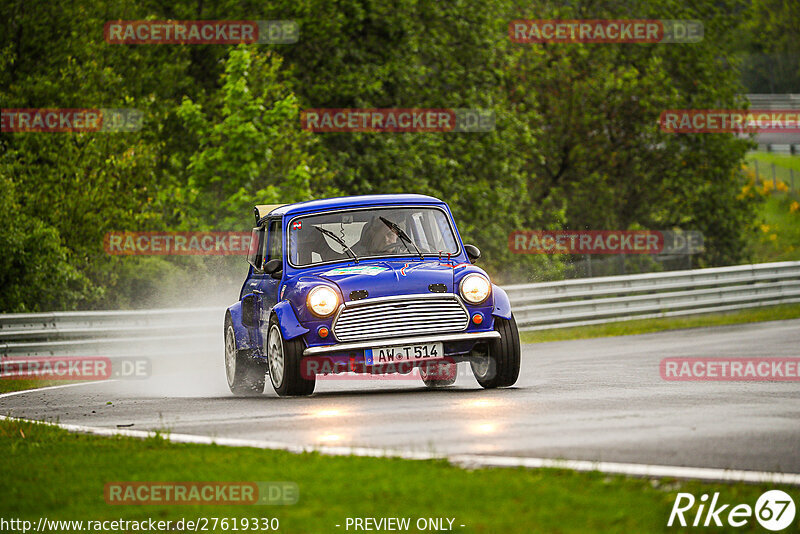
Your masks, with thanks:
[{"label": "white Rike67 logo in the bottom right corner", "polygon": [[755,507],[749,504],[723,503],[719,492],[715,492],[710,501],[706,493],[700,499],[695,499],[691,493],[678,493],[667,526],[743,527],[755,517],[762,527],[777,532],[794,524],[795,512],[794,501],[788,493],[781,490],[763,493]]}]

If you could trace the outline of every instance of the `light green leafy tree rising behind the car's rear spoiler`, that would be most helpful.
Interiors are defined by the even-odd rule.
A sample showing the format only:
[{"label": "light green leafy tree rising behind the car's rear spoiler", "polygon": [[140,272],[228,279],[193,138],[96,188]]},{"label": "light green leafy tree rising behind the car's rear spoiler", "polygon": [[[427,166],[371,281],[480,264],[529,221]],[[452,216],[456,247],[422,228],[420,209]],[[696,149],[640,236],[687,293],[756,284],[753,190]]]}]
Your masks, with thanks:
[{"label": "light green leafy tree rising behind the car's rear spoiler", "polygon": [[312,178],[325,178],[312,168],[314,139],[300,129],[297,98],[278,80],[280,67],[276,55],[242,45],[225,62],[208,114],[187,97],[178,107],[198,143],[182,208],[196,227],[235,227],[243,207],[309,200]]}]

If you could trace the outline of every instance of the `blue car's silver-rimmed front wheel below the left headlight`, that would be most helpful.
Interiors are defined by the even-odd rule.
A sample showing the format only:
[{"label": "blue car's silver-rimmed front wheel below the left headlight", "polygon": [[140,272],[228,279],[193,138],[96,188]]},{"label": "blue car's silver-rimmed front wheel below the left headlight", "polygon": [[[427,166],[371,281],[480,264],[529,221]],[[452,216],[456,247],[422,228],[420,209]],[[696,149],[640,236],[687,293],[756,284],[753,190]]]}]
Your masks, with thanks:
[{"label": "blue car's silver-rimmed front wheel below the left headlight", "polygon": [[[280,346],[278,346],[280,344]],[[302,374],[303,342],[300,338],[285,340],[278,326],[278,317],[269,320],[265,344],[269,376],[275,393],[280,397],[305,396],[314,393],[317,377],[304,378]],[[278,363],[282,366],[279,369]]]}]

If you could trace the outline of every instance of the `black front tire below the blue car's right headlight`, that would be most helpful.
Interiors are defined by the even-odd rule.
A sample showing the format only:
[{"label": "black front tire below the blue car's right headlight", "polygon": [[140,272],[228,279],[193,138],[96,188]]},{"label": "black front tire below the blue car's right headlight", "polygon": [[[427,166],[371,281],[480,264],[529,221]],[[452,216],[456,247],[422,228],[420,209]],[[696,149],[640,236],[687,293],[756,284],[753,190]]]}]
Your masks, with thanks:
[{"label": "black front tire below the blue car's right headlight", "polygon": [[494,329],[500,339],[489,344],[488,356],[470,361],[472,374],[484,389],[513,386],[519,378],[519,330],[514,316],[495,317]]}]

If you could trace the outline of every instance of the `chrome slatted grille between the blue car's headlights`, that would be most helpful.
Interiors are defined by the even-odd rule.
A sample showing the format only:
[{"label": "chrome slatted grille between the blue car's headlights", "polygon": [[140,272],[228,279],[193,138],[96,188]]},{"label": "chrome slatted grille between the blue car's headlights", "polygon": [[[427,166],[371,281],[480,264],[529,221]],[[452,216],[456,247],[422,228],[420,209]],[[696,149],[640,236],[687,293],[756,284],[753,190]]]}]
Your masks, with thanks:
[{"label": "chrome slatted grille between the blue car's headlights", "polygon": [[379,297],[348,302],[333,322],[339,341],[460,332],[469,314],[455,295]]}]

